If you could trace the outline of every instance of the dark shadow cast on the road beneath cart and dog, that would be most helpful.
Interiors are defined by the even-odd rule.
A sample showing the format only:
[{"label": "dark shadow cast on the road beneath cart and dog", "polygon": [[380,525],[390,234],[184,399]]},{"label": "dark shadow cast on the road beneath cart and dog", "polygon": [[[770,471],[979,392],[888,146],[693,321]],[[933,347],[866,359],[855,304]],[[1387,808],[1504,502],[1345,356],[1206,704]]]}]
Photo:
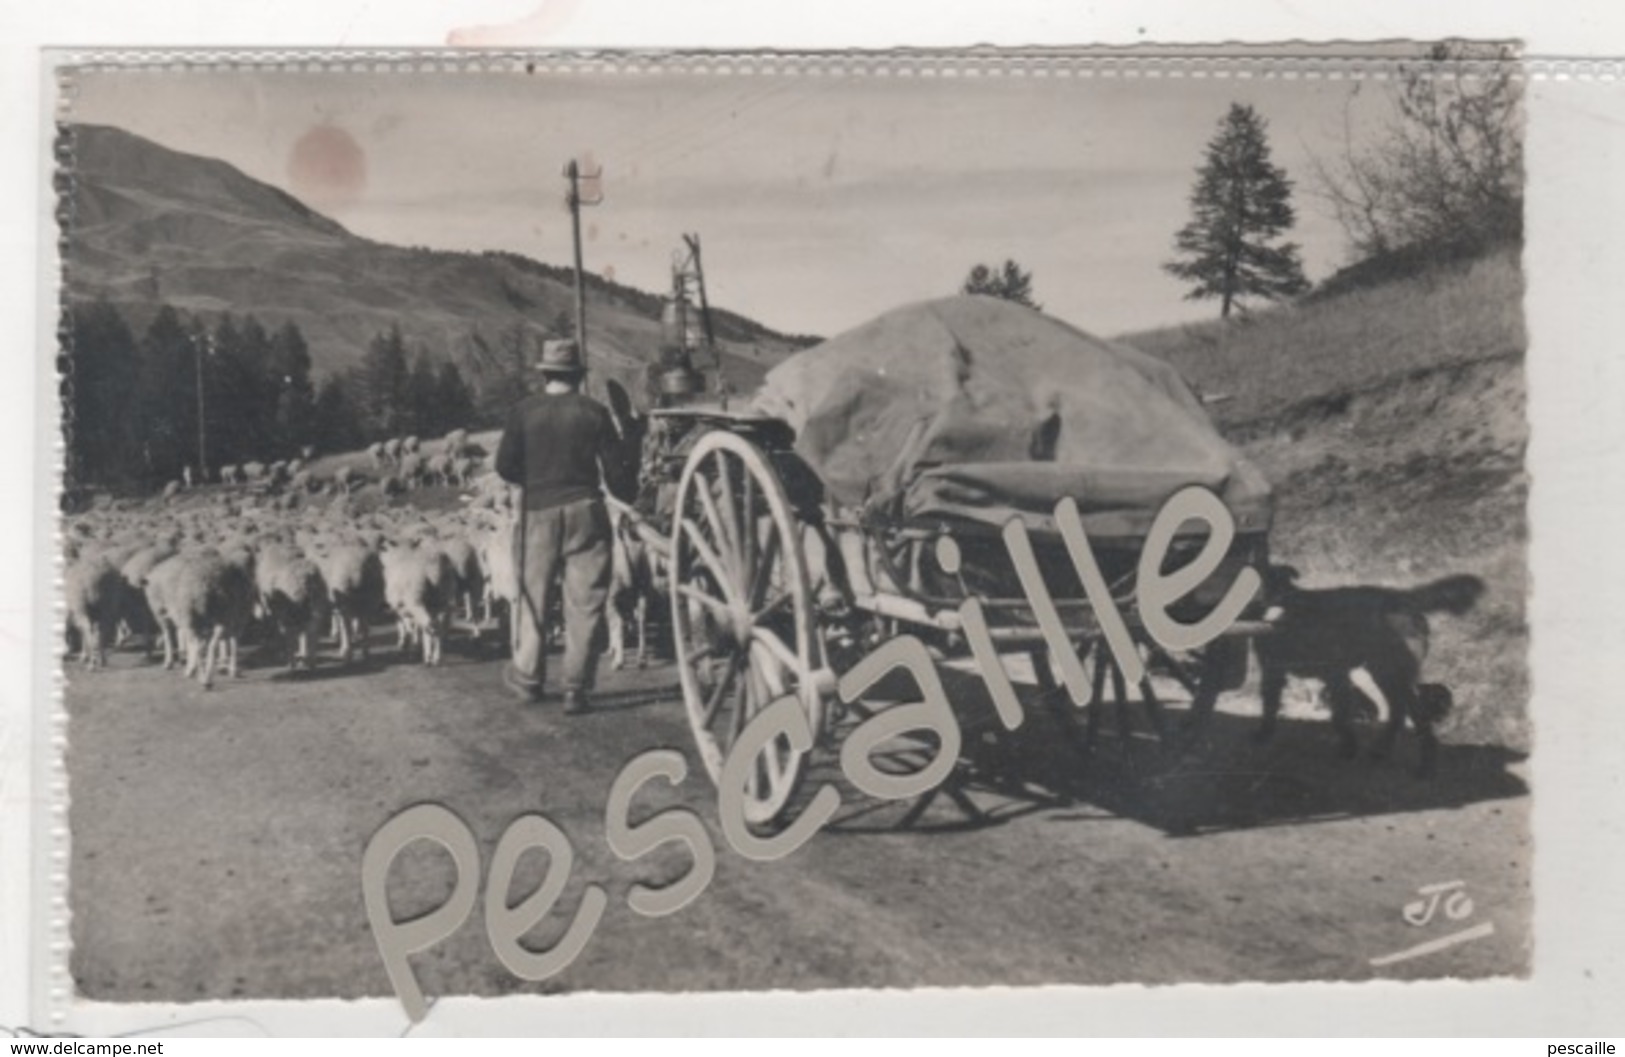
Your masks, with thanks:
[{"label": "dark shadow cast on the road beneath cart and dog", "polygon": [[[1388,759],[1342,759],[1326,719],[1282,719],[1274,742],[1261,746],[1253,742],[1254,716],[1217,712],[1196,743],[1176,750],[1150,733],[1142,714],[1139,729],[1126,732],[1107,716],[1102,737],[1086,751],[1077,727],[1043,709],[1029,709],[1024,724],[1006,732],[993,722],[991,707],[977,707],[973,698],[967,704],[962,694],[954,702],[964,743],[952,777],[918,800],[881,802],[824,774],[840,781],[848,805],[830,823],[832,833],[960,831],[1043,813],[1053,824],[1126,818],[1185,837],[1435,811],[1529,792],[1510,771],[1526,755],[1495,745],[1451,745],[1448,729],[1438,776],[1419,779],[1410,732]],[[1170,725],[1183,719],[1183,709],[1168,709]],[[1362,745],[1370,745],[1376,730],[1375,724],[1362,727]],[[876,766],[912,771],[933,753],[934,742],[897,740]]]}]

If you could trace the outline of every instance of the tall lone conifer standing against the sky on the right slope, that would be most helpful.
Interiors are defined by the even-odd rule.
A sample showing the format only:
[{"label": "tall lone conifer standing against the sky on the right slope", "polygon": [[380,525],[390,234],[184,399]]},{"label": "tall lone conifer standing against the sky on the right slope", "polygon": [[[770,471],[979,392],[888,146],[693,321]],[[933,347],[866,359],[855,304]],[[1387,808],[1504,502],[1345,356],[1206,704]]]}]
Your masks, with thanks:
[{"label": "tall lone conifer standing against the sky on the right slope", "polygon": [[[1294,242],[1292,181],[1269,161],[1264,119],[1235,102],[1207,143],[1191,189],[1191,223],[1175,236],[1181,259],[1164,267],[1194,283],[1186,301],[1219,298],[1219,315],[1248,298],[1276,301],[1308,289]],[[1245,306],[1243,306],[1245,307]]]}]

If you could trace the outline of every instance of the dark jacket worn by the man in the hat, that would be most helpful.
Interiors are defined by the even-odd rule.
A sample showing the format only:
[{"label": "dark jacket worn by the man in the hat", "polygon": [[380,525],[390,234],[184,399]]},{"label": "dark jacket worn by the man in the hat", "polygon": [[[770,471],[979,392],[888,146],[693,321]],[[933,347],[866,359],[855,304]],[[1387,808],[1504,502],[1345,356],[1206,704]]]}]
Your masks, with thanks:
[{"label": "dark jacket worn by the man in the hat", "polygon": [[538,394],[509,411],[497,473],[525,489],[526,511],[600,496],[621,434],[609,410],[578,392]]}]

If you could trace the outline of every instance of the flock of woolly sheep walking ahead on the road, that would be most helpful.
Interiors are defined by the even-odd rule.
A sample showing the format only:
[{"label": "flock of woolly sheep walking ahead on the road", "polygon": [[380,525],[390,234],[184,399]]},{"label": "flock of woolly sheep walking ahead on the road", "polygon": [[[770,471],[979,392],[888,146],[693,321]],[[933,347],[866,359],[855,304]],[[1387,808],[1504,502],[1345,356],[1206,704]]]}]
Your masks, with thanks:
[{"label": "flock of woolly sheep walking ahead on the road", "polygon": [[[184,663],[185,675],[206,688],[216,672],[237,675],[239,642],[254,633],[291,668],[312,667],[325,637],[338,662],[364,659],[370,628],[384,620],[395,624],[396,649],[421,649],[426,665],[440,663],[458,616],[474,637],[476,621],[505,626],[512,649],[517,491],[492,472],[474,472],[478,454],[463,431],[448,434],[432,457],[411,439],[375,447],[369,452],[375,463],[393,468],[379,480],[380,491],[421,483],[418,467],[444,467],[448,459],[462,506],[366,504],[351,494],[354,476],[343,468],[332,486],[318,488],[301,460],[291,460],[240,476],[223,473],[226,486],[185,489],[184,502],[182,489],[166,489],[162,502],[124,501],[70,515],[63,582],[70,650],[98,668],[109,647],[141,639],[148,657],[161,650],[166,668]],[[318,491],[332,498],[312,499]],[[374,509],[364,512],[367,506]],[[637,558],[629,533],[616,538],[616,581],[624,585]],[[609,624],[619,665],[619,616]]]}]

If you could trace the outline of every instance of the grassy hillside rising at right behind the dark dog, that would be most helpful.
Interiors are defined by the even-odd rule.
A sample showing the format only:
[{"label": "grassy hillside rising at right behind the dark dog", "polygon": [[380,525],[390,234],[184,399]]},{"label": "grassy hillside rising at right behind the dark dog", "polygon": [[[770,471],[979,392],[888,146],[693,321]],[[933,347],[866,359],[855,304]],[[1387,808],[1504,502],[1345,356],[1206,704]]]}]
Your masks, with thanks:
[{"label": "grassy hillside rising at right behind the dark dog", "polygon": [[1175,363],[1276,486],[1274,555],[1305,584],[1488,584],[1433,620],[1446,737],[1528,746],[1523,276],[1502,254],[1259,314],[1126,335]]}]

